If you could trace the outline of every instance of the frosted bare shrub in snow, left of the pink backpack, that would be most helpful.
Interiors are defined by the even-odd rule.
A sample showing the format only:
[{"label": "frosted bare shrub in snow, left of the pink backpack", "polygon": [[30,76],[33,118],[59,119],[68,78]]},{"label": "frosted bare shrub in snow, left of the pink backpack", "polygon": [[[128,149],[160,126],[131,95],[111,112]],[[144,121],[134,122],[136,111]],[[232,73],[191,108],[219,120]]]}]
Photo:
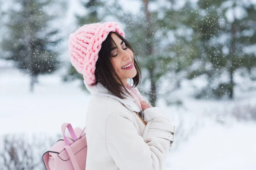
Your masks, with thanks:
[{"label": "frosted bare shrub in snow, left of the pink backpack", "polygon": [[1,170],[44,170],[42,155],[58,138],[41,134],[4,135],[0,141]]}]

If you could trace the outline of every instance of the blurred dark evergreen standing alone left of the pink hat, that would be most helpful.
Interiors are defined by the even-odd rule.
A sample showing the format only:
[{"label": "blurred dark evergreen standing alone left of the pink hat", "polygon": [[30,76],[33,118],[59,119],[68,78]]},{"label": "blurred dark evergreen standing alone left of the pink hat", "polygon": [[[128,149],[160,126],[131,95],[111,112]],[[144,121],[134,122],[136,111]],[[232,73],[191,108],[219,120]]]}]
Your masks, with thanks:
[{"label": "blurred dark evergreen standing alone left of the pink hat", "polygon": [[15,61],[17,68],[30,75],[30,91],[39,74],[49,74],[58,68],[58,54],[53,48],[61,39],[53,38],[58,30],[49,28],[47,24],[53,17],[45,11],[51,3],[52,0],[15,0],[13,8],[6,12],[9,32],[1,43],[8,52],[4,58]]}]

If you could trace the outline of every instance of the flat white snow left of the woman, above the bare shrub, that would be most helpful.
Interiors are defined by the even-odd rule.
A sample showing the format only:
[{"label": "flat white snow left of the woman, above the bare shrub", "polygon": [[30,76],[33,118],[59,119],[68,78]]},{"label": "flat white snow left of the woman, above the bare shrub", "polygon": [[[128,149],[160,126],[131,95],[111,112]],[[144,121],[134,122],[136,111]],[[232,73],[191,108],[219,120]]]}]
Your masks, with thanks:
[{"label": "flat white snow left of the woman, above the bare shrub", "polygon": [[[85,126],[90,96],[80,82],[63,83],[59,76],[41,76],[29,93],[29,77],[11,70],[0,74],[0,135],[6,133],[60,133],[63,122]],[[3,129],[8,129],[5,131]]]}]

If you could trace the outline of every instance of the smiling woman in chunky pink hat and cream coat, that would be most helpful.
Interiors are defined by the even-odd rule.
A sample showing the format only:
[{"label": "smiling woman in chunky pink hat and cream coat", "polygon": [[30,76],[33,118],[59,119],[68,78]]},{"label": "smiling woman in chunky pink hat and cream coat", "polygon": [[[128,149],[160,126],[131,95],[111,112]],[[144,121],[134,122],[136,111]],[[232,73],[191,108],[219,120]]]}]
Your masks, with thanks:
[{"label": "smiling woman in chunky pink hat and cream coat", "polygon": [[71,62],[91,93],[86,170],[162,170],[173,142],[168,113],[148,104],[136,88],[140,68],[124,37],[115,22],[70,34]]}]

